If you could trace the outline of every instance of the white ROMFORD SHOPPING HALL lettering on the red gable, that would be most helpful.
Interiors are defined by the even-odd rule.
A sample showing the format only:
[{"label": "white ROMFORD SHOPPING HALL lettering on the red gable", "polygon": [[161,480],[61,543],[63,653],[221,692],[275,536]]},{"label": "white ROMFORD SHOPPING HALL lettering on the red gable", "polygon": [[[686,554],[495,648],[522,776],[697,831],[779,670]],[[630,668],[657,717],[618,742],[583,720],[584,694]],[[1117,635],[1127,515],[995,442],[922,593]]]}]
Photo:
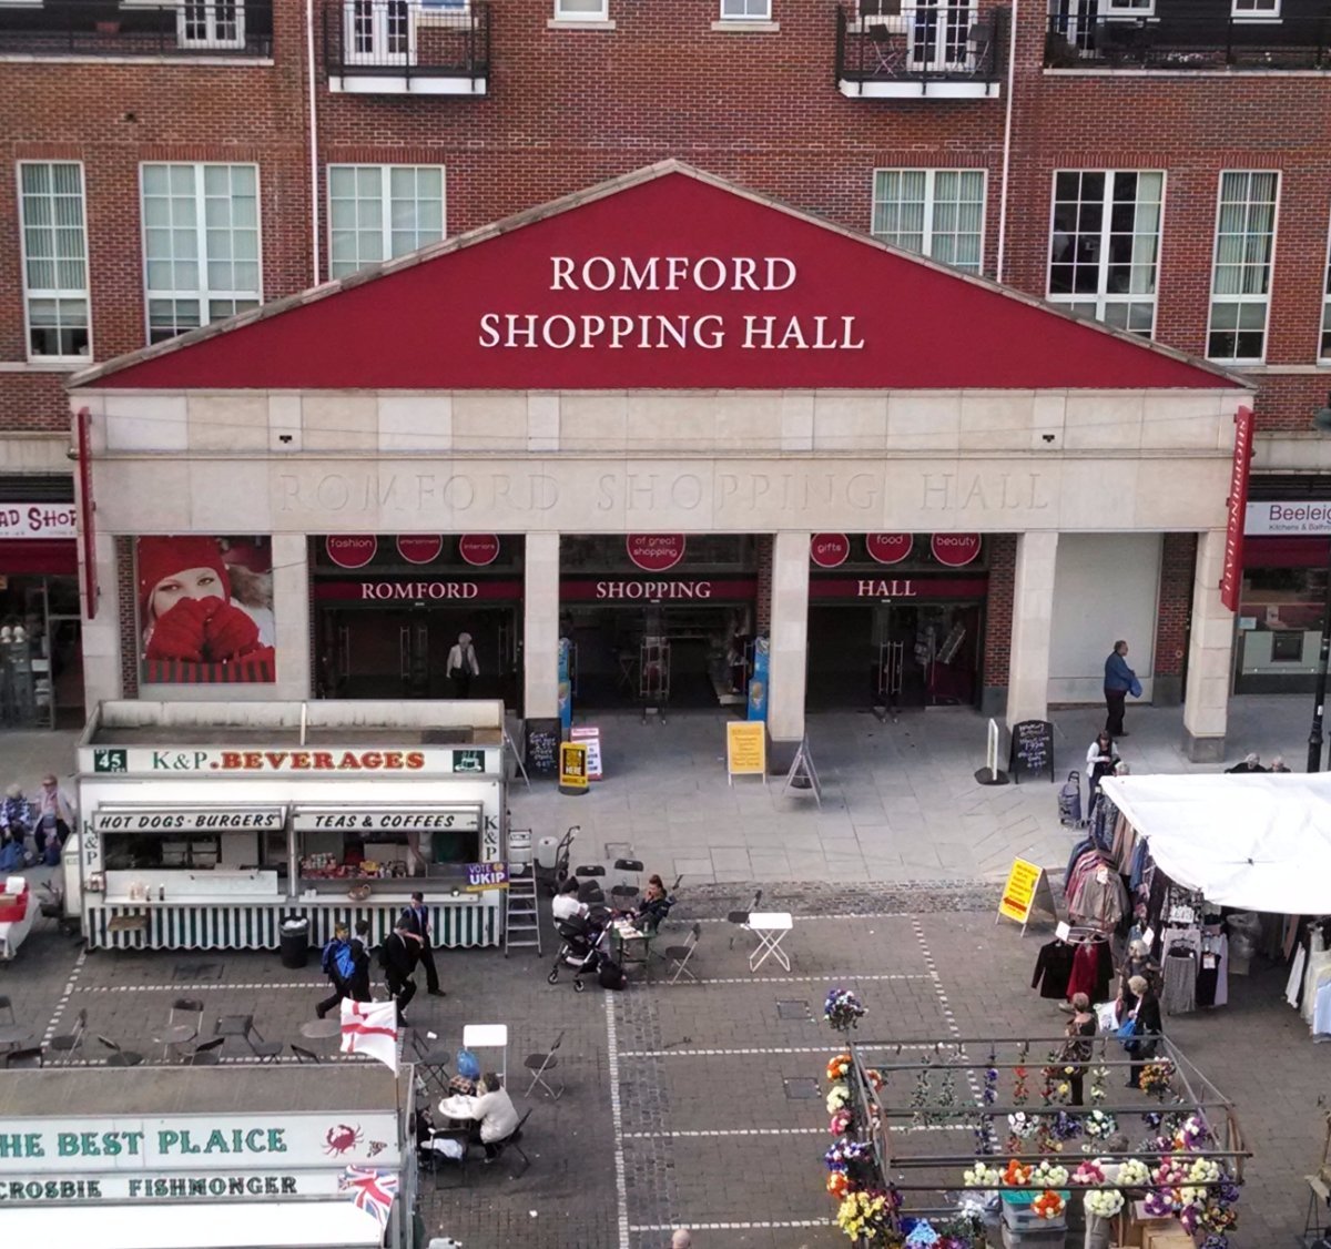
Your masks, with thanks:
[{"label": "white ROMFORD SHOPPING HALL lettering on the red gable", "polygon": [[[776,293],[799,278],[784,256],[551,256],[550,290],[611,294],[623,292],[696,290],[704,294]],[[719,352],[727,342],[745,352],[862,352],[856,318],[836,314],[776,316],[763,313],[498,313],[480,317],[482,348],[551,348],[590,352]]]}]

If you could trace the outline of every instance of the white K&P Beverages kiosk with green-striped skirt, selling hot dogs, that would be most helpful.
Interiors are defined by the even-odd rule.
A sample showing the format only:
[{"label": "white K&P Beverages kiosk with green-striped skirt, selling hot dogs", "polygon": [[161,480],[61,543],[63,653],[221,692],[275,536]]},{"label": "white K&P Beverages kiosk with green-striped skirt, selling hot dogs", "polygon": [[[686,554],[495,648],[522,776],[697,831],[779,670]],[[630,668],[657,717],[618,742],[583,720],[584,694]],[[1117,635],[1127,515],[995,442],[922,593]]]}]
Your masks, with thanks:
[{"label": "white K&P Beverages kiosk with green-striped skirt, selling hot dogs", "polygon": [[377,943],[419,889],[435,945],[496,945],[503,767],[498,702],[101,703],[79,743],[84,936],[276,949],[284,923],[319,945],[366,919]]}]

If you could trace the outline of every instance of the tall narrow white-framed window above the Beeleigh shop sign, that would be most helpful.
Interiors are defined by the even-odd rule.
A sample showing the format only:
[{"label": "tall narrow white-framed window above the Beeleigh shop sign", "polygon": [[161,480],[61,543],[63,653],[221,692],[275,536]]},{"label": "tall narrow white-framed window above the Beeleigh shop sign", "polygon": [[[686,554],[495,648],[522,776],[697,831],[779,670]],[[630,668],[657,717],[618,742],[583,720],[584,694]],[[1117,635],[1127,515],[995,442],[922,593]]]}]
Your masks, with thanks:
[{"label": "tall narrow white-framed window above the Beeleigh shop sign", "polygon": [[1280,174],[1274,170],[1221,174],[1206,334],[1211,360],[1255,362],[1266,357],[1279,188]]}]

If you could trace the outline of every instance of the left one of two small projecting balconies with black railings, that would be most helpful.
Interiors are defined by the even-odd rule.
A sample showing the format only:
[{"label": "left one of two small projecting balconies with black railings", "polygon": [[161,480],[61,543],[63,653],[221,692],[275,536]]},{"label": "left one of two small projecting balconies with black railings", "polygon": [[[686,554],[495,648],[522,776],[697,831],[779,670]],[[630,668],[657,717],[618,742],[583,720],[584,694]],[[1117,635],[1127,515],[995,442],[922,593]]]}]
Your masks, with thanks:
[{"label": "left one of two small projecting balconies with black railings", "polygon": [[329,75],[463,77],[490,72],[490,4],[333,0],[323,9]]}]

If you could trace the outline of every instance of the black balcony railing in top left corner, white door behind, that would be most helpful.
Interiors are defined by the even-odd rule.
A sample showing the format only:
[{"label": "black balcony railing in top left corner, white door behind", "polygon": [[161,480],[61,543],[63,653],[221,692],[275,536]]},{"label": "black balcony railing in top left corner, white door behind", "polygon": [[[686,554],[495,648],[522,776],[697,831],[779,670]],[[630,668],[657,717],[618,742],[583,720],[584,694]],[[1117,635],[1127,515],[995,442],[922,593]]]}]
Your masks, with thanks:
[{"label": "black balcony railing in top left corner, white door behind", "polygon": [[273,7],[270,0],[0,4],[0,55],[268,57]]}]

